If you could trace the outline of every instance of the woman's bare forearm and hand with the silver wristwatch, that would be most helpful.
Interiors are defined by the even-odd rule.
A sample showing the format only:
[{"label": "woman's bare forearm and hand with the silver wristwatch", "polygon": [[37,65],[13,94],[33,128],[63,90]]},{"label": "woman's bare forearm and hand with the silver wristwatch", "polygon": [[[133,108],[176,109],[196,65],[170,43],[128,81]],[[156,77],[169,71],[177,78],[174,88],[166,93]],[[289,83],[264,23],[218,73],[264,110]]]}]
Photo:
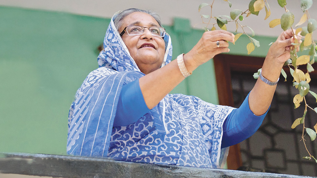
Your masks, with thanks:
[{"label": "woman's bare forearm and hand with the silver wristwatch", "polygon": [[[262,66],[263,77],[273,82],[278,80],[285,61],[290,58],[290,47],[293,42],[294,38],[291,30],[281,33],[268,50]],[[275,89],[276,85],[270,86],[264,83],[260,77],[257,79],[255,86],[249,94],[249,107],[255,115],[260,116],[268,110]]]}]

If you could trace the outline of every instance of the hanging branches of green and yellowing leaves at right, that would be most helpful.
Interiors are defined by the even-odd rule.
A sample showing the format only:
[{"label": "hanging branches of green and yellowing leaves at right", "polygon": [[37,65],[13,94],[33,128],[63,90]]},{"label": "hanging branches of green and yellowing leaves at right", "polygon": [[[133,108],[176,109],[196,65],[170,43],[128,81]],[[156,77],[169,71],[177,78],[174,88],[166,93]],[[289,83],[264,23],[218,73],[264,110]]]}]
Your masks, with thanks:
[{"label": "hanging branches of green and yellowing leaves at right", "polygon": [[[230,3],[227,0],[224,0],[224,1],[228,2],[231,8],[232,3]],[[244,11],[239,9],[231,10],[230,16],[228,15],[212,16],[211,12],[212,12],[213,3],[214,1],[211,4],[202,3],[199,5],[199,8],[198,8],[198,11],[200,11],[201,8],[206,6],[210,6],[211,8],[210,15],[201,15],[203,23],[207,24],[206,27],[204,28],[205,31],[209,31],[208,25],[212,25],[212,28],[210,30],[216,30],[217,26],[220,29],[227,30],[226,24],[228,24],[228,22],[235,22],[236,32],[239,28],[241,28],[243,30],[243,33],[237,33],[235,35],[235,40],[233,44],[235,44],[235,42],[238,40],[238,38],[241,35],[245,34],[250,39],[250,42],[246,46],[248,54],[250,54],[255,49],[255,47],[260,47],[260,42],[253,38],[255,35],[255,32],[253,31],[253,29],[251,29],[249,26],[242,25],[241,23],[246,17],[250,15],[258,16],[259,12],[262,9],[265,9],[266,16],[264,20],[266,20],[271,15],[270,7],[267,0],[251,0],[247,10],[244,10]],[[274,28],[280,25],[281,29],[283,29],[284,31],[287,29],[292,29],[294,43],[292,43],[292,46],[290,47],[291,58],[285,62],[284,66],[289,67],[290,74],[293,77],[293,86],[296,89],[298,89],[298,92],[299,92],[299,94],[296,94],[293,98],[295,109],[298,108],[303,101],[305,103],[305,110],[304,110],[303,116],[301,118],[297,118],[292,124],[291,128],[294,129],[298,125],[303,124],[302,140],[309,154],[309,156],[306,156],[303,158],[304,159],[313,158],[317,162],[314,156],[312,156],[309,153],[306,147],[305,139],[304,139],[305,135],[307,134],[310,137],[310,139],[314,141],[316,139],[316,134],[317,134],[317,123],[314,126],[314,130],[311,128],[305,127],[305,116],[307,113],[307,108],[312,109],[317,113],[317,107],[314,109],[311,108],[310,106],[307,105],[306,99],[305,99],[305,96],[308,93],[310,93],[312,96],[314,96],[317,103],[317,94],[313,91],[310,91],[310,86],[309,86],[309,82],[311,81],[309,73],[314,71],[312,64],[315,61],[314,58],[317,57],[317,53],[316,53],[317,45],[313,39],[313,32],[317,29],[317,22],[315,19],[311,18],[308,13],[308,9],[312,6],[313,0],[301,0],[300,8],[303,11],[303,15],[300,21],[294,26],[294,28],[297,28],[297,29],[293,29],[294,14],[286,8],[286,5],[287,5],[286,0],[277,0],[277,3],[283,8],[283,10],[285,10],[285,13],[281,16],[281,18],[270,21],[269,27]],[[204,22],[204,18],[209,19],[209,22]],[[215,20],[216,22],[211,23],[210,21],[212,19]],[[302,26],[302,27],[299,27],[299,26]],[[246,27],[250,30],[252,35],[248,35],[246,33],[245,31]],[[301,38],[303,38],[304,41],[299,41],[297,36],[300,36]],[[298,56],[296,51],[297,48],[299,48],[300,51],[309,50],[308,55]],[[302,70],[298,68],[298,66],[301,66],[301,65],[306,65],[306,68],[307,68],[306,73],[304,73]],[[259,69],[257,73],[254,73],[253,77],[255,79],[259,77],[260,71],[261,69]],[[285,78],[285,81],[286,81],[287,74],[283,69],[281,70],[281,74]],[[304,134],[305,132],[306,134]]]}]

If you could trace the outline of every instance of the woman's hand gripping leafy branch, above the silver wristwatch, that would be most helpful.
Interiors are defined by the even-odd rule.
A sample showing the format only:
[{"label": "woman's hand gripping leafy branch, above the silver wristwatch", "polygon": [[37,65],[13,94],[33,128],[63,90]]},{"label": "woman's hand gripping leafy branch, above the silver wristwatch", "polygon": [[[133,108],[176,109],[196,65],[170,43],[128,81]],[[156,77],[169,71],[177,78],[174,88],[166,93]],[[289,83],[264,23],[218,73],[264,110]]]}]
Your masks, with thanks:
[{"label": "woman's hand gripping leafy branch, above the silver wristwatch", "polygon": [[[291,29],[283,31],[269,48],[267,57],[275,59],[277,63],[284,64],[290,58],[290,48],[293,46],[291,43],[294,43],[293,33]],[[298,35],[296,35],[296,39],[301,42],[301,37]],[[299,50],[299,46],[296,50]]]}]

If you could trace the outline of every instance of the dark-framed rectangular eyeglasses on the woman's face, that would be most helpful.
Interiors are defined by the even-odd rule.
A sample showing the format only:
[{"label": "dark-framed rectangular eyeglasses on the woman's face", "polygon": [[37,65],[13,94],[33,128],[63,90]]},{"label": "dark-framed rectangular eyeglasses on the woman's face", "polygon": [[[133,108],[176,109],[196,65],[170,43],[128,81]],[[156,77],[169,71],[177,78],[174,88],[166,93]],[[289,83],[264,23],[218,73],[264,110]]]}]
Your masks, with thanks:
[{"label": "dark-framed rectangular eyeglasses on the woman's face", "polygon": [[120,33],[120,36],[122,36],[125,32],[127,32],[128,35],[141,35],[143,34],[145,28],[148,28],[151,34],[154,36],[165,36],[165,29],[163,27],[143,27],[139,25],[126,26],[126,28],[124,28],[123,31]]}]

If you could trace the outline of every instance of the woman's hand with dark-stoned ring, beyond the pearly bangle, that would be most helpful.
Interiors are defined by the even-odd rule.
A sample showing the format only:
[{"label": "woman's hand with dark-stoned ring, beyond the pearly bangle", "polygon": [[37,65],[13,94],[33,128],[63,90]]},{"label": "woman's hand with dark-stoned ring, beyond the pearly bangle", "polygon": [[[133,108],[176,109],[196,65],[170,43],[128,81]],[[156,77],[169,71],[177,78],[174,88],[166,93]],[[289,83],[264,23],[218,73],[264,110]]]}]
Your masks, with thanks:
[{"label": "woman's hand with dark-stoned ring, beyond the pearly bangle", "polygon": [[[229,43],[227,41],[234,42],[234,37],[235,35],[225,30],[205,32],[197,44],[188,53],[184,54],[185,64],[187,63],[189,66],[196,68],[213,58],[216,54],[229,52]],[[219,47],[217,47],[217,41],[219,41]]]}]

